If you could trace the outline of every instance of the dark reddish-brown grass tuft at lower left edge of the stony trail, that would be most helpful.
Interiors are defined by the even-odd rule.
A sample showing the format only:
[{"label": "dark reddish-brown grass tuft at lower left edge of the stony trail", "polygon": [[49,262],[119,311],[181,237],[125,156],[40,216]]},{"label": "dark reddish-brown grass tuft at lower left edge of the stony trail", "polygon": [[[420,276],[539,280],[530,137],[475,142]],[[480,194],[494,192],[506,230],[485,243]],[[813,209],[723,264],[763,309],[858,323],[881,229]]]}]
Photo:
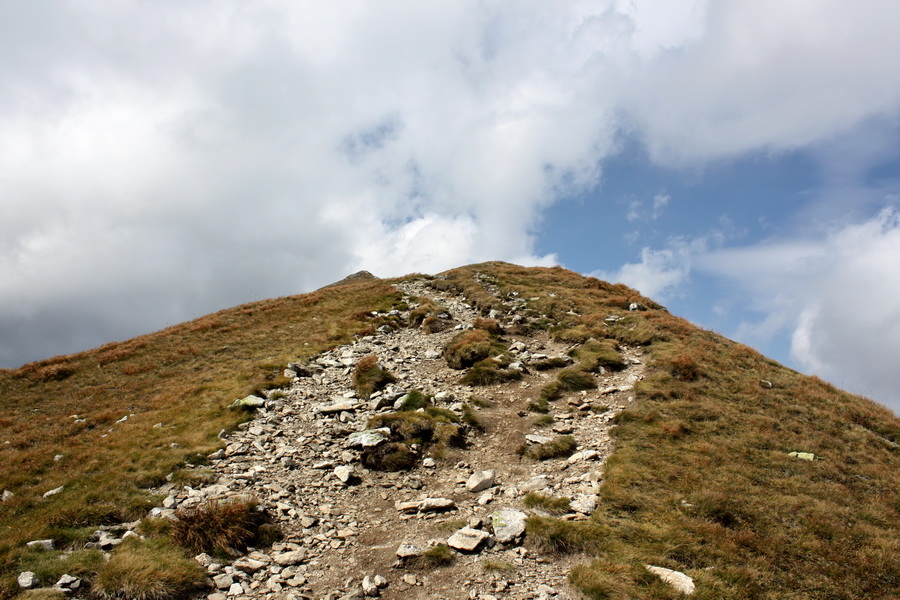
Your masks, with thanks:
[{"label": "dark reddish-brown grass tuft at lower left edge of the stony trail", "polygon": [[195,554],[225,556],[257,541],[266,521],[255,500],[210,500],[175,513],[172,539]]}]

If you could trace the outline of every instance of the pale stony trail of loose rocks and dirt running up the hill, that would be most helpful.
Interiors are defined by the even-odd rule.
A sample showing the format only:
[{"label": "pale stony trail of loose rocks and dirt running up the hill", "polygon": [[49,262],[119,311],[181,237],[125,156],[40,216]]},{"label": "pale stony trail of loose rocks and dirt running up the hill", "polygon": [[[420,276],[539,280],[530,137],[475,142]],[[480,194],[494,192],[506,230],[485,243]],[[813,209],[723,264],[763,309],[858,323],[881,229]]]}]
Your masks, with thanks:
[{"label": "pale stony trail of loose rocks and dirt running up the hill", "polygon": [[[410,297],[430,297],[445,307],[449,328],[440,333],[383,328],[318,357],[312,369],[300,370],[290,388],[270,394],[254,420],[227,436],[226,448],[213,455],[208,467],[217,476],[214,484],[167,490],[160,514],[209,498],[247,494],[258,498],[284,531],[272,548],[232,565],[198,557],[217,588],[210,600],[365,594],[410,600],[580,597],[566,575],[585,557],[543,554],[516,531],[495,531],[491,515],[500,509],[517,511],[504,513],[511,518],[524,516],[518,511],[531,514],[522,499],[528,491],[539,491],[573,499],[564,518],[588,518],[611,449],[610,420],[633,401],[631,386],[642,377],[640,350],[623,349],[624,371],[599,374],[596,390],[556,401],[553,423],[537,427],[539,415],[529,412],[528,404],[557,371],[528,370],[527,364],[542,355],[565,356],[570,347],[544,334],[506,335],[525,367],[522,379],[463,386],[462,372],[448,368],[441,352],[479,315],[461,297],[437,292],[425,282],[401,287]],[[514,316],[515,305],[509,310],[495,316],[503,322]],[[352,372],[371,354],[398,381],[362,400],[353,391]],[[395,401],[413,389],[456,412],[477,396],[484,401],[478,409],[484,430],[469,431],[465,448],[436,457],[426,452],[411,471],[363,468],[359,449],[348,445],[350,435],[367,429],[374,415],[392,411]],[[559,434],[576,439],[571,457],[538,462],[517,453],[523,444]],[[493,471],[493,485],[470,491],[480,477],[487,480],[482,485],[491,483],[484,471]],[[464,527],[469,541],[478,543],[474,550],[454,550],[447,566],[428,566],[417,557],[446,544]],[[507,540],[510,536],[514,539]],[[459,539],[453,537],[451,545],[463,547]]]}]

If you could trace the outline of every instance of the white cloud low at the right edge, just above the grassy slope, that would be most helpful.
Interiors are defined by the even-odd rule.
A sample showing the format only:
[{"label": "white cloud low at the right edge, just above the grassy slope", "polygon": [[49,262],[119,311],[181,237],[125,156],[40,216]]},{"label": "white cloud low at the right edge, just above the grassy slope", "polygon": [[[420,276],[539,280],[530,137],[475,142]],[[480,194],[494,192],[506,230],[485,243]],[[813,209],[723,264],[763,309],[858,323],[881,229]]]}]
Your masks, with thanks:
[{"label": "white cloud low at the right edge, just above the grassy slope", "polygon": [[694,257],[734,281],[765,315],[738,333],[764,341],[787,329],[799,366],[900,411],[900,213],[835,228],[802,243],[762,243]]}]

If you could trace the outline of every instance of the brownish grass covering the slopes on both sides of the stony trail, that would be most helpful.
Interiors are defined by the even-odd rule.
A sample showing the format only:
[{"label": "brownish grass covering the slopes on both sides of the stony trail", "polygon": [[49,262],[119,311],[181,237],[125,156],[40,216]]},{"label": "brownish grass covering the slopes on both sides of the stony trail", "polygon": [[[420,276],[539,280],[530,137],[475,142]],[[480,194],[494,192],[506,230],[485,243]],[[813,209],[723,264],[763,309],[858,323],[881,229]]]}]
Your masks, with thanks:
[{"label": "brownish grass covering the slopes on both sides of the stony trail", "polygon": [[[25,541],[141,516],[146,488],[239,422],[232,400],[372,328],[368,311],[401,301],[388,284],[257,302],[0,372],[0,489],[15,494],[0,503],[0,596],[33,558]],[[572,572],[591,597],[678,597],[644,564],[686,572],[701,599],[897,597],[900,420],[888,410],[564,269],[486,263],[431,285],[485,313],[517,294],[523,333],[645,346],[650,376],[617,419],[600,507],[528,525],[543,550],[595,557]]]}]

